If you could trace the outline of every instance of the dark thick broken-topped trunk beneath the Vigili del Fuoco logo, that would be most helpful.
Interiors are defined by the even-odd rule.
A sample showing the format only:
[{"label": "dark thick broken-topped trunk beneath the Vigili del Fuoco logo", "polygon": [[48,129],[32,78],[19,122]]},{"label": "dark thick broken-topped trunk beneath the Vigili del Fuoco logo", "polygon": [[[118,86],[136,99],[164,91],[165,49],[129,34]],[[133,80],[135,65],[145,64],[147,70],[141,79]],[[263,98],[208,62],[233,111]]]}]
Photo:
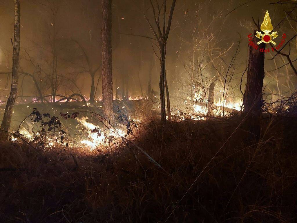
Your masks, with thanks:
[{"label": "dark thick broken-topped trunk beneath the Vigili del Fuoco logo", "polygon": [[[265,43],[257,45],[258,39],[255,37],[249,42],[249,63],[247,68],[247,84],[245,87],[243,105],[244,114],[259,116],[262,106],[262,87],[264,79],[264,52]],[[253,43],[253,45],[251,45]]]}]

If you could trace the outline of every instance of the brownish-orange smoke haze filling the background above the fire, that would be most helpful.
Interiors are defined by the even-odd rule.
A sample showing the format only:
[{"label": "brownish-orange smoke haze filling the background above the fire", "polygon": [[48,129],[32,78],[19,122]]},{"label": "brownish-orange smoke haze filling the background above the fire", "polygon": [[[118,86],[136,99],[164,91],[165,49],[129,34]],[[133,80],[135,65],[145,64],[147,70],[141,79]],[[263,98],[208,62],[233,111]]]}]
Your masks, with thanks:
[{"label": "brownish-orange smoke haze filling the background above the fire", "polygon": [[[177,1],[166,55],[170,92],[189,80],[188,74],[191,69],[189,65],[193,59],[195,61],[202,55],[202,48],[199,50],[196,48],[195,52],[193,51],[199,41],[204,41],[204,45],[208,42],[212,44],[211,47],[219,49],[212,52],[214,57],[219,55],[219,51],[223,52],[231,47],[228,53],[224,54],[224,61],[228,64],[241,38],[240,52],[236,61],[238,65],[233,76],[234,81],[238,82],[236,77],[240,78],[241,72],[246,67],[247,35],[255,29],[252,18],[256,21],[259,19],[261,23],[265,10],[269,10],[274,25],[284,18],[284,9],[269,4],[270,1],[245,3],[245,1]],[[91,69],[95,71],[94,84],[98,86],[95,97],[101,97],[101,79],[98,81],[98,78],[101,78],[100,6],[100,1],[28,0],[21,2],[20,68],[24,73],[35,72],[42,94],[50,94],[50,89],[47,89],[49,87],[47,76],[51,72],[51,45],[55,38],[59,82],[57,93],[69,95],[75,92],[89,98]],[[149,18],[152,18],[148,8],[148,2],[145,1],[113,1],[114,95],[116,95],[116,88],[119,88],[118,94],[121,95],[123,81],[128,84],[130,95],[141,95],[141,88],[143,94],[146,94],[149,75],[151,75],[152,89],[158,92],[159,61],[154,54],[157,48],[154,40],[146,38],[153,35],[143,15],[146,13]],[[11,71],[10,38],[13,36],[13,10],[12,1],[1,1],[0,72]],[[229,12],[231,13],[228,14]],[[282,23],[282,27],[274,28],[279,33],[286,32],[290,38],[292,35],[286,27],[290,28],[288,22]],[[195,54],[196,57],[193,57]],[[271,55],[267,54],[265,64],[268,70],[272,70],[269,57]],[[207,59],[205,56],[203,63],[208,63]],[[219,61],[217,60],[216,63]],[[40,75],[36,74],[38,67],[41,70]],[[211,73],[209,70],[206,72]],[[266,90],[273,91],[276,88],[273,76],[272,72],[267,75]],[[9,75],[1,74],[0,80],[1,100],[5,101],[4,95],[9,93]],[[20,95],[34,96],[38,93],[30,76],[21,75],[20,82],[22,83],[19,89]],[[239,94],[238,85],[235,85],[236,94]],[[288,89],[282,90],[288,91]]]}]

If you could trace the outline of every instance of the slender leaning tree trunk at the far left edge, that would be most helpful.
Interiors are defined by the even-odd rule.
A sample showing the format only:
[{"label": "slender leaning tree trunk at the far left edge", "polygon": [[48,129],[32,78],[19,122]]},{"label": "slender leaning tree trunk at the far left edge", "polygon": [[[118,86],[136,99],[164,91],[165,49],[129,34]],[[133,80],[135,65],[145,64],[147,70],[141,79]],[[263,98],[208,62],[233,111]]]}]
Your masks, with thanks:
[{"label": "slender leaning tree trunk at the far left edge", "polygon": [[17,97],[18,92],[18,67],[19,67],[19,54],[20,54],[20,1],[15,0],[15,26],[14,26],[14,46],[13,46],[13,54],[12,54],[12,80],[10,87],[10,95],[7,99],[7,104],[5,107],[5,112],[3,116],[3,120],[1,123],[0,129],[5,131],[2,132],[3,138],[7,138],[8,131],[10,129],[12,109],[15,103],[15,99]]}]

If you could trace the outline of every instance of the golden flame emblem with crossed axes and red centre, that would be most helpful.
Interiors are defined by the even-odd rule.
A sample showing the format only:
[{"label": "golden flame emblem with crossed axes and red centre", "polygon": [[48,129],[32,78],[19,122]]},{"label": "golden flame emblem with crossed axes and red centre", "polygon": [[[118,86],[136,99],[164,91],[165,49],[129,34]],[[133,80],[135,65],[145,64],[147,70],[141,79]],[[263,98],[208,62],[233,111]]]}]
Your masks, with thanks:
[{"label": "golden flame emblem with crossed axes and red centre", "polygon": [[271,24],[271,19],[267,10],[264,16],[264,20],[261,24],[261,31],[264,34],[262,34],[262,32],[256,32],[256,37],[261,39],[261,41],[259,41],[257,44],[259,45],[260,43],[272,43],[275,45],[276,43],[272,39],[276,38],[278,35],[277,32],[272,32],[271,34],[269,34],[272,30],[273,26]]}]

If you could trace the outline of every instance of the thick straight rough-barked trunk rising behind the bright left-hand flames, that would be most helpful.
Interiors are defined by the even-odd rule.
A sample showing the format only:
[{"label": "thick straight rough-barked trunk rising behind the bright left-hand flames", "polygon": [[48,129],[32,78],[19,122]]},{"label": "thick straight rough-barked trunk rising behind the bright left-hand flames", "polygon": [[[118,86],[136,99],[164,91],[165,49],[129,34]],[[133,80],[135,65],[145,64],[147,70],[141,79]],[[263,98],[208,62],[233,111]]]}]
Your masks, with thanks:
[{"label": "thick straight rough-barked trunk rising behind the bright left-hand flames", "polygon": [[102,98],[105,117],[109,119],[113,112],[111,15],[112,0],[102,0]]}]

